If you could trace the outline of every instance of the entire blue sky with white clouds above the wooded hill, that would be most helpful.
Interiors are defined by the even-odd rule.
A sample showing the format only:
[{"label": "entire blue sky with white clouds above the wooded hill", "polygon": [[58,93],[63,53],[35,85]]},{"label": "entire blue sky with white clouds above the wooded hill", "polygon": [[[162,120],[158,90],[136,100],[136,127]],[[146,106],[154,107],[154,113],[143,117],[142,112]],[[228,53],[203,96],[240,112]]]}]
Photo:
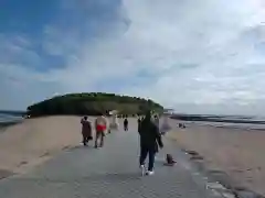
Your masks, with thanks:
[{"label": "entire blue sky with white clouds above the wooded hill", "polygon": [[265,116],[263,0],[1,0],[0,109],[70,92]]}]

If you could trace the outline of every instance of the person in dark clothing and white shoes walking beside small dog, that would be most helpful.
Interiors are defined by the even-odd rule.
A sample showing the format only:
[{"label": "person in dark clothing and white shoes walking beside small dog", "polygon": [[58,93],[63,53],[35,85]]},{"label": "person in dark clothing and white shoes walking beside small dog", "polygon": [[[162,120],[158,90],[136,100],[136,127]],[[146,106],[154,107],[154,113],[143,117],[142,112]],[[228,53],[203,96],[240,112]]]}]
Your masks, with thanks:
[{"label": "person in dark clothing and white shoes walking beside small dog", "polygon": [[149,156],[148,172],[147,175],[153,174],[153,163],[155,163],[155,154],[158,150],[158,145],[163,147],[163,143],[161,140],[161,135],[157,125],[151,121],[150,112],[146,113],[145,119],[140,124],[140,167],[142,175],[145,174],[145,161],[147,155]]}]

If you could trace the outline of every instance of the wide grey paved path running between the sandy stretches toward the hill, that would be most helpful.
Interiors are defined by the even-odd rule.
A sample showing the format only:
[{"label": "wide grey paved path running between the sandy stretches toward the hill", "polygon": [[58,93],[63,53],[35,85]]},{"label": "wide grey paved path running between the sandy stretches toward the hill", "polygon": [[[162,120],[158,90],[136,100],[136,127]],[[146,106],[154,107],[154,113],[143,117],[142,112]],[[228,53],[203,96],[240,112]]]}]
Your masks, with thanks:
[{"label": "wide grey paved path running between the sandy stretches toward the hill", "polygon": [[[132,122],[132,123],[131,123]],[[105,147],[77,146],[63,152],[31,173],[0,182],[3,198],[211,198],[202,178],[166,142],[153,176],[140,176],[136,120],[129,131],[106,136]],[[121,128],[120,128],[121,129]],[[167,152],[178,160],[174,167],[162,165]]]}]

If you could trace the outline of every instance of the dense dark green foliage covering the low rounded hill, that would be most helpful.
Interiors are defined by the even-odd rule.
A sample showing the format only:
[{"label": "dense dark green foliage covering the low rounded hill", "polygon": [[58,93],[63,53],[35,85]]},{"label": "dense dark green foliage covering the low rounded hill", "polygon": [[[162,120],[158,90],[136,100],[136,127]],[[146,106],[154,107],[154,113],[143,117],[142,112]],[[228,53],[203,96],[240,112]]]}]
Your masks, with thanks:
[{"label": "dense dark green foliage covering the low rounded hill", "polygon": [[142,114],[147,109],[161,112],[163,108],[150,99],[89,92],[56,96],[28,107],[28,114],[31,117],[51,114],[97,116],[112,110],[118,110],[120,114]]}]

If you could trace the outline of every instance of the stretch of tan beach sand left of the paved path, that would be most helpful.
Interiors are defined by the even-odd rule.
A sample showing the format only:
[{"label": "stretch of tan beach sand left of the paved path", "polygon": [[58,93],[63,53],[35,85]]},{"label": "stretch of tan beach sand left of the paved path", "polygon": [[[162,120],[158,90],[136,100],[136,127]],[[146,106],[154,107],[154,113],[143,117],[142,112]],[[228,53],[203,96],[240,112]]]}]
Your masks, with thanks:
[{"label": "stretch of tan beach sand left of the paved path", "polygon": [[23,173],[64,148],[80,146],[80,117],[24,120],[0,131],[0,178]]}]

